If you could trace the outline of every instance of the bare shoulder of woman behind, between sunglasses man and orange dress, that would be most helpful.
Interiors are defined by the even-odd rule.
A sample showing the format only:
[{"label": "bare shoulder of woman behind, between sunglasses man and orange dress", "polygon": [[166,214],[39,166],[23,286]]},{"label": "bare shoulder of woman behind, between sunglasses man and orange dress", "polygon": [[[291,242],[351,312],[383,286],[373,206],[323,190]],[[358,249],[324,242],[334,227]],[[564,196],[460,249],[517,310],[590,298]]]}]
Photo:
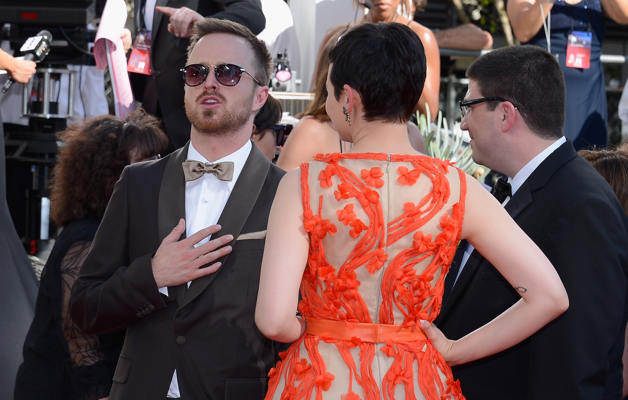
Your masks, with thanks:
[{"label": "bare shoulder of woman behind, between sunglasses man and orange dress", "polygon": [[279,153],[277,166],[284,171],[290,171],[303,164],[312,161],[314,155],[318,153],[332,153],[340,148],[340,138],[336,134],[337,147],[330,149],[327,144],[326,130],[321,127],[322,123],[314,118],[301,118],[295,128],[288,135],[286,143]]}]

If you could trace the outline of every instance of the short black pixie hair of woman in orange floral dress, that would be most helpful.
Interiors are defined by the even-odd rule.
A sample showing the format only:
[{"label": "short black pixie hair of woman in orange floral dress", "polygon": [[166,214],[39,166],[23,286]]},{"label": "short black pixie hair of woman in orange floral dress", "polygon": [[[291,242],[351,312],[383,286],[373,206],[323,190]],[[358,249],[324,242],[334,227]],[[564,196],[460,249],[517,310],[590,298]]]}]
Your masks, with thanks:
[{"label": "short black pixie hair of woman in orange floral dress", "polygon": [[338,39],[329,53],[338,100],[344,85],[357,90],[367,121],[408,122],[425,84],[423,43],[408,26],[364,23]]}]

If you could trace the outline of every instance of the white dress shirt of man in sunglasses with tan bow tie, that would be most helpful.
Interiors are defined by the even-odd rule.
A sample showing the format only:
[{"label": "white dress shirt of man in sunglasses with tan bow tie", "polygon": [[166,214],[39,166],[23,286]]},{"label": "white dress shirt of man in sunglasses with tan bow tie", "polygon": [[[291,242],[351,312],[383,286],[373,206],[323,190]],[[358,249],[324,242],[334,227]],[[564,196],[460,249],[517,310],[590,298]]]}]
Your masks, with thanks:
[{"label": "white dress shirt of man in sunglasses with tan bow tie", "polygon": [[[244,163],[251,153],[251,140],[247,140],[239,150],[233,152],[222,159],[212,162],[215,164],[222,161],[232,161],[234,163],[233,179],[228,181],[220,181],[214,174],[204,174],[195,181],[185,182],[185,231],[186,237],[190,237],[203,228],[215,225],[222,214],[222,210],[227,204],[229,195],[236,184],[237,178],[242,172]],[[200,162],[209,162],[192,143],[188,148],[188,160]],[[183,167],[181,167],[183,168]],[[205,238],[198,242],[195,246],[200,246],[207,242],[210,238]],[[191,282],[188,282],[188,287]],[[168,295],[168,288],[160,288],[161,293]],[[176,380],[176,370],[170,382],[170,389],[166,397],[181,397],[179,392],[179,384]]]}]

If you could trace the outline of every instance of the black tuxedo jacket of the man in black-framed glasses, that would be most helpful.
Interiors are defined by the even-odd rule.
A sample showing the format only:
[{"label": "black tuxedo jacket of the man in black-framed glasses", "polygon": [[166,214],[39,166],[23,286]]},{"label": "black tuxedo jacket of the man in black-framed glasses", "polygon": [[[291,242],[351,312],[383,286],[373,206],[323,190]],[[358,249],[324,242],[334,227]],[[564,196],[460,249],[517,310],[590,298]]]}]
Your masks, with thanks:
[{"label": "black tuxedo jacket of the man in black-framed glasses", "polygon": [[[615,193],[568,140],[505,208],[558,271],[569,309],[524,342],[454,367],[453,376],[468,400],[601,399],[609,354],[625,327],[628,219]],[[449,339],[460,339],[520,298],[473,251],[435,324]],[[619,357],[623,335],[620,345]]]}]

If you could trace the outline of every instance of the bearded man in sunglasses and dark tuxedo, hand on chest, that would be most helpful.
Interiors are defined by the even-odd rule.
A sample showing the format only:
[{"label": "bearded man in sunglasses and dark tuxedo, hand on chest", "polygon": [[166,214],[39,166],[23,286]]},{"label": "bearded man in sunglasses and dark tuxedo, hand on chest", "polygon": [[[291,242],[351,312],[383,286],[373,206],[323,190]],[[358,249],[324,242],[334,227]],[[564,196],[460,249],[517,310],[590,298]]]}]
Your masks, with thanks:
[{"label": "bearded man in sunglasses and dark tuxedo, hand on chest", "polygon": [[274,366],[254,315],[284,171],[249,140],[271,56],[240,24],[208,18],[195,29],[191,141],[124,169],[72,288],[82,332],[127,328],[111,400],[259,400]]}]

